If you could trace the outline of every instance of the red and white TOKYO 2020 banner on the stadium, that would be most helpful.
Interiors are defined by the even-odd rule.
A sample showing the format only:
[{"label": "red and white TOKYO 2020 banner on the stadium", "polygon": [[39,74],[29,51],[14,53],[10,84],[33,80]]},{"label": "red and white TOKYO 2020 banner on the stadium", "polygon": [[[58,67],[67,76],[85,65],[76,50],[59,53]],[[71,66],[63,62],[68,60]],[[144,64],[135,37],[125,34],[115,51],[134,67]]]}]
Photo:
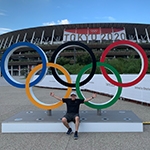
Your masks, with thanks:
[{"label": "red and white TOKYO 2020 banner on the stadium", "polygon": [[104,41],[125,40],[124,28],[82,28],[65,29],[63,41]]}]

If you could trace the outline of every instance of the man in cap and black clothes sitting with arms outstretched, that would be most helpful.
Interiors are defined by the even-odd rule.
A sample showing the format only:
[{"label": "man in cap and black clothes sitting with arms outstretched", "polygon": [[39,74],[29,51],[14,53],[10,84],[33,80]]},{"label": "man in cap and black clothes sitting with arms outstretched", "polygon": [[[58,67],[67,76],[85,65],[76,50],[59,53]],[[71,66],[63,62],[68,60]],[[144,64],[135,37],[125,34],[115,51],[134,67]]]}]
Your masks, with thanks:
[{"label": "man in cap and black clothes sitting with arms outstretched", "polygon": [[79,116],[80,104],[92,100],[97,96],[97,94],[93,93],[91,97],[86,99],[78,99],[75,92],[71,93],[70,98],[60,98],[56,96],[53,92],[50,93],[50,96],[66,103],[67,113],[62,118],[62,122],[68,129],[68,131],[66,132],[66,134],[68,135],[72,134],[72,129],[69,126],[69,122],[73,121],[75,123],[74,139],[76,140],[78,138],[78,129],[80,123],[80,116]]}]

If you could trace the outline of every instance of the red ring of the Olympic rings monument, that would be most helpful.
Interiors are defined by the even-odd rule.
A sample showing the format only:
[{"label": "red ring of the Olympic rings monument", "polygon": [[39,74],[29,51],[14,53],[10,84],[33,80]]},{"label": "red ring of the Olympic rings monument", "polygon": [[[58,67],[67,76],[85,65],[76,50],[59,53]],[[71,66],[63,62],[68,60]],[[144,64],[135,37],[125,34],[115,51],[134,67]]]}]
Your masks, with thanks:
[{"label": "red ring of the Olympic rings monument", "polygon": [[134,50],[136,50],[138,52],[138,54],[140,55],[140,58],[141,58],[141,62],[142,62],[142,66],[141,66],[141,71],[139,73],[139,75],[137,76],[137,78],[131,82],[127,82],[127,83],[120,83],[120,82],[116,82],[114,81],[113,79],[111,79],[107,72],[106,72],[106,69],[101,66],[100,69],[101,69],[101,72],[102,74],[104,75],[104,77],[110,82],[112,83],[113,85],[116,85],[116,86],[120,86],[120,87],[129,87],[129,86],[133,86],[135,84],[137,84],[138,82],[140,82],[142,80],[142,78],[145,76],[146,72],[147,72],[147,69],[148,69],[148,58],[147,58],[147,55],[146,53],[144,52],[143,48],[141,46],[139,46],[138,44],[134,43],[134,42],[131,42],[131,41],[127,41],[127,40],[121,40],[121,41],[117,41],[117,42],[114,42],[112,44],[110,44],[105,50],[104,52],[102,53],[102,56],[100,58],[100,62],[104,62],[105,61],[105,57],[107,55],[107,53],[113,49],[114,47],[116,46],[120,46],[120,45],[125,45],[125,46],[129,46],[129,47],[132,47]]}]

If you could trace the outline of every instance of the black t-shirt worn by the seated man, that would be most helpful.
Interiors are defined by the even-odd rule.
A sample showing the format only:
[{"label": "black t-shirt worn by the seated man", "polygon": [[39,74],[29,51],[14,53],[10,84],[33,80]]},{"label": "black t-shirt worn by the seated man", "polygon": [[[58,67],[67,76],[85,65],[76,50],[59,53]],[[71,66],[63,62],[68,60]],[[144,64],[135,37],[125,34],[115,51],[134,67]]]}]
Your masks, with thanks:
[{"label": "black t-shirt worn by the seated man", "polygon": [[62,100],[67,105],[67,113],[79,113],[80,104],[84,103],[84,99],[63,98]]}]

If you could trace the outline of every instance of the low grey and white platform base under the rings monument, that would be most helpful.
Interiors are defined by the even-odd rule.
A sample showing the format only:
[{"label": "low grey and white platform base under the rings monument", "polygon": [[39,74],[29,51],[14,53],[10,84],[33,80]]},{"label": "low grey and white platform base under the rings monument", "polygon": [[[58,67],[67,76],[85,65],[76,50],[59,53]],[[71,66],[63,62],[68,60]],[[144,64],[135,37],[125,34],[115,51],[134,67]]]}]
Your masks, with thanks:
[{"label": "low grey and white platform base under the rings monument", "polygon": [[[22,111],[2,122],[2,133],[66,132],[61,122],[65,111]],[[143,123],[132,111],[80,111],[79,132],[143,132]],[[73,122],[70,123],[74,130]]]}]

